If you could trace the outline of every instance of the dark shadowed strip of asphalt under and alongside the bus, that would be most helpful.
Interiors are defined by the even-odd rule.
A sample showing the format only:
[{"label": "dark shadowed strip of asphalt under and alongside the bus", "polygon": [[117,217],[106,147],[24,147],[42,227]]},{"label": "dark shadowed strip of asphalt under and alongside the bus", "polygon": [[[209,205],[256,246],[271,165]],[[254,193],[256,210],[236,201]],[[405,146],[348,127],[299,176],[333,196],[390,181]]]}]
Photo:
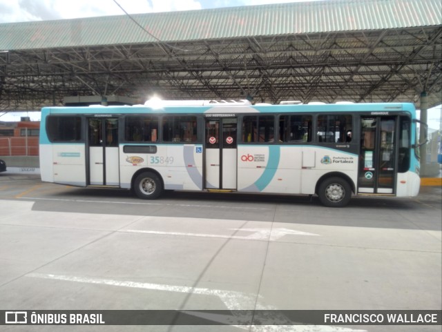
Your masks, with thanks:
[{"label": "dark shadowed strip of asphalt under and alongside the bus", "polygon": [[[348,206],[344,208],[327,208],[320,204],[318,197],[308,195],[166,191],[158,199],[143,200],[135,197],[131,191],[121,189],[69,189],[57,193],[56,197],[36,199],[32,210],[441,230],[440,201],[439,207],[436,206],[437,197],[434,195],[431,201],[434,202],[434,207],[427,203],[430,202],[428,199],[423,203],[419,201],[419,197],[352,197]],[[410,221],[414,219],[415,222]],[[439,222],[436,222],[436,219],[439,219]]]}]

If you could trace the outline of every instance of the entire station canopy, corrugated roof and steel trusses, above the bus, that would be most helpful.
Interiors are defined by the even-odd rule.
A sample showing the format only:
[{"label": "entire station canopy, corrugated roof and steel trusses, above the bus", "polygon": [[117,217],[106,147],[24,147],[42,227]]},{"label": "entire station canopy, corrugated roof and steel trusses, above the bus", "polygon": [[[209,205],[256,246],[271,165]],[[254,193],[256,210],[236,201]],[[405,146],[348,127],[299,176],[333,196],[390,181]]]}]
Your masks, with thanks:
[{"label": "entire station canopy, corrugated roof and steel trusses, above the bus", "polygon": [[441,0],[329,0],[0,24],[0,111],[65,97],[441,104]]}]

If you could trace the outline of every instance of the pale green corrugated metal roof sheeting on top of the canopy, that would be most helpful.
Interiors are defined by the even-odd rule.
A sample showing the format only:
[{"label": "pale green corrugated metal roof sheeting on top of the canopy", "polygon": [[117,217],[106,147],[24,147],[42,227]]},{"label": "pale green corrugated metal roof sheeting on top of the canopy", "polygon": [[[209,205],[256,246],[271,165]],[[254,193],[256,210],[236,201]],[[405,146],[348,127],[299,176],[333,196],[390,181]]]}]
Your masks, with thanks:
[{"label": "pale green corrugated metal roof sheeting on top of the canopy", "polygon": [[0,24],[0,50],[439,26],[440,0],[334,0]]}]

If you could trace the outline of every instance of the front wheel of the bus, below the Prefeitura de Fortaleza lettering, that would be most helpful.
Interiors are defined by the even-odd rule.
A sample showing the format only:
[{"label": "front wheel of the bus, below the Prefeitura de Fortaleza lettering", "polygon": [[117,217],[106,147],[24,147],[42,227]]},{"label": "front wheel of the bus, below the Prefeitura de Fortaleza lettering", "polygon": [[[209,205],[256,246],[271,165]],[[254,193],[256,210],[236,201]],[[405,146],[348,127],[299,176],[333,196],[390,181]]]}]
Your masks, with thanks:
[{"label": "front wheel of the bus, below the Prefeitura de Fortaleza lettering", "polygon": [[320,184],[318,196],[323,205],[340,208],[346,206],[352,198],[352,187],[345,179],[329,177]]}]

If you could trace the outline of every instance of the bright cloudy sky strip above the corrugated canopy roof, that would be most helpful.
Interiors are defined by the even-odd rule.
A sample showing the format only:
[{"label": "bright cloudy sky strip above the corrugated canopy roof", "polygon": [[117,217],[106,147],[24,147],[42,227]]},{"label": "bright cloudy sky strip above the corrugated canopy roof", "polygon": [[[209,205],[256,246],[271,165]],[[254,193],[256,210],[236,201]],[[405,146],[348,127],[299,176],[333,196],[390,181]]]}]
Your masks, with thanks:
[{"label": "bright cloudy sky strip above the corrugated canopy roof", "polygon": [[0,23],[77,19],[316,0],[0,0]]}]

